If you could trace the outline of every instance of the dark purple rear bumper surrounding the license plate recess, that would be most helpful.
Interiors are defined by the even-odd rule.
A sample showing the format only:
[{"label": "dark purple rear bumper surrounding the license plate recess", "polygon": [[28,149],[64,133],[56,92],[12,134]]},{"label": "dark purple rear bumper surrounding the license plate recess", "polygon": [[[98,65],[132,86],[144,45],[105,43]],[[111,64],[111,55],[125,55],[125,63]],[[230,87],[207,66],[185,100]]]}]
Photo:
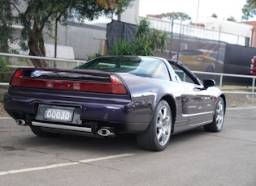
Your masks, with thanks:
[{"label": "dark purple rear bumper surrounding the license plate recess", "polygon": [[[92,128],[93,133],[96,133],[95,128],[111,127],[115,129],[116,133],[139,133],[150,124],[153,109],[148,104],[137,105],[131,101],[125,104],[113,103],[111,104],[111,100],[92,103],[92,101],[85,102],[80,99],[29,98],[9,93],[4,96],[4,108],[7,113],[15,120],[25,120],[28,125],[32,125],[33,122],[41,122],[36,119],[39,104],[79,108],[82,123],[78,127],[81,131],[89,127]],[[42,122],[46,123],[46,121]],[[50,124],[55,129],[62,129],[65,128],[63,126],[70,125],[59,122],[50,122]]]}]

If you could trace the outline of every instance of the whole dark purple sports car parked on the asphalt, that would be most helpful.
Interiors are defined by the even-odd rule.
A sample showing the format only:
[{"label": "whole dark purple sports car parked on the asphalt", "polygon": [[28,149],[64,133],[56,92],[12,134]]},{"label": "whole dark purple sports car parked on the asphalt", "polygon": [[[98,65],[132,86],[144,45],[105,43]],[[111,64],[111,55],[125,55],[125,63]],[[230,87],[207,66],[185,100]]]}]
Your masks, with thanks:
[{"label": "whole dark purple sports car parked on the asphalt", "polygon": [[98,57],[72,70],[16,70],[4,108],[39,137],[134,133],[141,148],[159,151],[174,133],[222,129],[226,99],[214,86],[179,61]]}]

